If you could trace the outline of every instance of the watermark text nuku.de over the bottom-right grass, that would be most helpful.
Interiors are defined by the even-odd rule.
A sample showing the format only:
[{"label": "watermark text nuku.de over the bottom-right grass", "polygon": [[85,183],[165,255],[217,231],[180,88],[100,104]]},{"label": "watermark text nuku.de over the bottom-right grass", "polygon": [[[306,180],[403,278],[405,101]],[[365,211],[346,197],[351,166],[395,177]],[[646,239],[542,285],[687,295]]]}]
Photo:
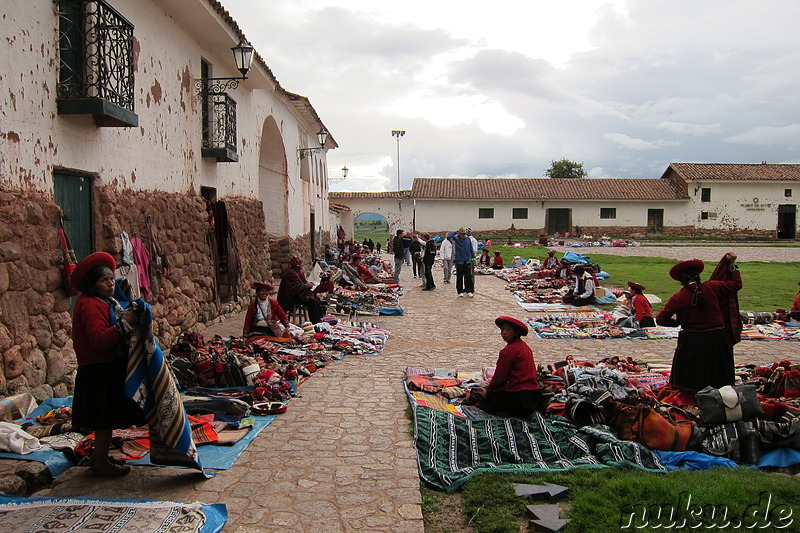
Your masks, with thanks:
[{"label": "watermark text nuku.de over the bottom-right grass", "polygon": [[[744,504],[743,504],[744,505]],[[692,495],[681,492],[675,504],[633,504],[620,509],[621,529],[783,529],[792,525],[792,508],[775,502],[772,494],[762,492],[758,503],[744,509],[722,503],[692,503]]]}]

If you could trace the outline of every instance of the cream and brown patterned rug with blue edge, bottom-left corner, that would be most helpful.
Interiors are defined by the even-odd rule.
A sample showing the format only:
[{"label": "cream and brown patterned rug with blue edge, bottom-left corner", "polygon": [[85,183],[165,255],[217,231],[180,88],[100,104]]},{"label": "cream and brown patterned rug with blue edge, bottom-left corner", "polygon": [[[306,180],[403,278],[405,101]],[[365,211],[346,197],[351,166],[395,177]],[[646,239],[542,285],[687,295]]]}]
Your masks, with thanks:
[{"label": "cream and brown patterned rug with blue edge, bottom-left corner", "polygon": [[216,533],[228,520],[224,504],[19,498],[0,495],[0,531],[51,533],[126,531]]}]

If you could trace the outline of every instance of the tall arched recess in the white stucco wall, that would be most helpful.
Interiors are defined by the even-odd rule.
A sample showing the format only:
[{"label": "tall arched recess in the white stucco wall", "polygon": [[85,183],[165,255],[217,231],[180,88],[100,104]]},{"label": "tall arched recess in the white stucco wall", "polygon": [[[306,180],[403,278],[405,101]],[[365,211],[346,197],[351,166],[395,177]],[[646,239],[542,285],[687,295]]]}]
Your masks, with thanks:
[{"label": "tall arched recess in the white stucco wall", "polygon": [[264,206],[267,235],[286,235],[289,230],[288,182],[283,138],[270,115],[261,130],[258,160],[258,198]]}]

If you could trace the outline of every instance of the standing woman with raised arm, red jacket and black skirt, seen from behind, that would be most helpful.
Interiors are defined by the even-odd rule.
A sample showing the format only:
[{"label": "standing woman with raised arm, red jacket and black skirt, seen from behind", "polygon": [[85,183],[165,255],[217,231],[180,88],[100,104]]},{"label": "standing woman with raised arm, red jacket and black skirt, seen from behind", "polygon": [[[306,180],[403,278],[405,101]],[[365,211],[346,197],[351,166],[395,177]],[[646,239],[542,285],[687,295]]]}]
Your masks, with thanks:
[{"label": "standing woman with raised arm, red jacket and black skirt, seen from behind", "polygon": [[707,386],[733,385],[733,336],[725,326],[720,299],[735,296],[742,288],[736,254],[722,259],[730,268],[730,280],[700,281],[705,264],[682,261],[669,275],[683,286],[656,315],[660,326],[680,326],[672,359],[670,383],[690,391]]}]

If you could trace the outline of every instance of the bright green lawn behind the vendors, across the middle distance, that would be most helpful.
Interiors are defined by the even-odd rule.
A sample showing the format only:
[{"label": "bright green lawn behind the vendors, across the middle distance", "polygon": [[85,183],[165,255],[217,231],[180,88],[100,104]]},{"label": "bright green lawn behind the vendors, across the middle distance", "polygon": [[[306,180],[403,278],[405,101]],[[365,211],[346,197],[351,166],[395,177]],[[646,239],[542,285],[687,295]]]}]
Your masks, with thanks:
[{"label": "bright green lawn behind the vendors, across the middle distance", "polygon": [[[501,250],[503,261],[506,265],[511,263],[515,255],[523,259],[544,259],[546,249],[541,247],[512,248],[506,246],[493,246],[493,250]],[[581,254],[580,251],[576,253]],[[581,254],[584,255],[584,254]],[[674,259],[664,257],[622,257],[618,255],[604,255],[592,251],[587,253],[592,263],[597,263],[600,268],[608,272],[611,277],[601,280],[600,283],[607,288],[627,287],[628,281],[641,283],[647,290],[645,292],[659,296],[663,303],[653,304],[653,311],[658,311],[670,296],[675,294],[680,285],[669,277],[669,269],[675,264]],[[563,254],[557,253],[561,259]],[[720,255],[722,257],[722,255]],[[707,280],[716,265],[707,264],[706,272],[702,279]],[[742,311],[775,311],[775,309],[788,309],[797,294],[797,280],[800,278],[800,262],[793,263],[765,263],[752,261],[739,263],[742,273],[742,290],[739,291],[739,308]],[[614,307],[613,305],[611,306]]]}]

